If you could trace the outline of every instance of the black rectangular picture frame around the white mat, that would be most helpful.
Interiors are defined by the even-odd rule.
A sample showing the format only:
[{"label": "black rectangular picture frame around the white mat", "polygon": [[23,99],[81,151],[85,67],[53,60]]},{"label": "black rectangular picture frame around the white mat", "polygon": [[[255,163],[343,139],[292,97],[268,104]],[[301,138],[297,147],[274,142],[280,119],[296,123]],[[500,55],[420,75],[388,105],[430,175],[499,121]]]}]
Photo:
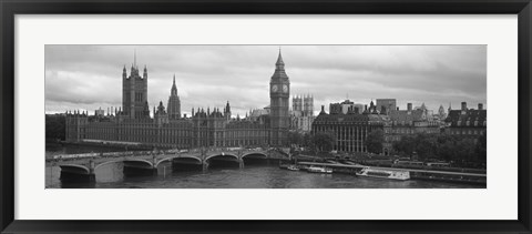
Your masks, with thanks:
[{"label": "black rectangular picture frame around the white mat", "polygon": [[[531,233],[530,0],[0,0],[0,230],[2,233]],[[516,221],[20,221],[14,220],[16,14],[518,14]],[[512,113],[513,114],[513,113]],[[493,201],[497,202],[497,201]],[[487,204],[489,205],[489,204]],[[258,211],[259,212],[259,211]]]}]

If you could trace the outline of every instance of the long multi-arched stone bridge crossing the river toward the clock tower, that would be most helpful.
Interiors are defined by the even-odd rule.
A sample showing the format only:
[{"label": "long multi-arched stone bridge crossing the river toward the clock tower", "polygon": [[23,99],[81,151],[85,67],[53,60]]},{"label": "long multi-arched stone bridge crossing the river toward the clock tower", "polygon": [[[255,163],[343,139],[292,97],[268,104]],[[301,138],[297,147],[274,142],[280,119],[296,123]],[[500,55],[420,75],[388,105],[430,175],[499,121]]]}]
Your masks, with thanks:
[{"label": "long multi-arched stone bridge crossing the river toward the clock tower", "polygon": [[171,162],[175,167],[206,171],[213,164],[244,167],[247,162],[289,160],[289,149],[208,147],[63,154],[47,159],[45,162],[47,166],[61,169],[61,180],[95,181],[98,169],[111,163],[123,163],[125,175],[146,175],[155,174],[163,162]]}]

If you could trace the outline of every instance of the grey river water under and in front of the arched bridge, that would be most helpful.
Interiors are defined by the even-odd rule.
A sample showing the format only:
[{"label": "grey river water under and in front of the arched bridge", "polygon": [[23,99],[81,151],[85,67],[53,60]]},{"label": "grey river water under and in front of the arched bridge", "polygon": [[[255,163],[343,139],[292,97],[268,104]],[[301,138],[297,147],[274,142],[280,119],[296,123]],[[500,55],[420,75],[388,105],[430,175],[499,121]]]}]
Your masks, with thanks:
[{"label": "grey river water under and in front of the arched bridge", "polygon": [[[113,151],[116,151],[113,149]],[[59,147],[47,156],[62,153],[99,152],[94,149]],[[172,163],[162,163],[157,175],[126,177],[122,163],[96,169],[95,183],[62,183],[58,166],[45,169],[45,185],[50,189],[484,189],[485,185],[433,182],[393,181],[359,177],[348,174],[315,174],[280,170],[277,165],[253,165],[243,169],[209,169],[208,171],[173,171]]]}]

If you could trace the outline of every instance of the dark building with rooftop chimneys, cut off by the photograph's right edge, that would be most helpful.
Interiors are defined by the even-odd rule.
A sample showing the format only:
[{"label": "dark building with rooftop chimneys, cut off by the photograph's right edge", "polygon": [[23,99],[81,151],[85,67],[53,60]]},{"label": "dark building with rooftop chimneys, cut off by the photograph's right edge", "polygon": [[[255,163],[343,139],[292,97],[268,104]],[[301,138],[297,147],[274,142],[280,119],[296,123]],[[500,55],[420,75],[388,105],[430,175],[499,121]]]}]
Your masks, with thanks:
[{"label": "dark building with rooftop chimneys, cut off by the photograph's right edge", "polygon": [[477,141],[479,136],[485,134],[487,110],[483,109],[482,103],[479,103],[477,110],[468,110],[466,102],[461,104],[460,110],[451,110],[451,106],[449,106],[449,114],[446,119],[446,123],[448,124],[446,132],[451,135],[469,138]]}]

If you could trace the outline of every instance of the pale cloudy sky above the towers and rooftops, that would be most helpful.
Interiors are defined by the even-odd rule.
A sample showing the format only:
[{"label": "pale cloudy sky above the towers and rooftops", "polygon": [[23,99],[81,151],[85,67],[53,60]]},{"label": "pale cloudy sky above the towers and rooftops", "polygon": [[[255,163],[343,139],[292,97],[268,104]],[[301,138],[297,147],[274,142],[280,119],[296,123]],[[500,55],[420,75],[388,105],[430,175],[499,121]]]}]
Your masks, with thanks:
[{"label": "pale cloudy sky above the towers and rooftops", "polygon": [[[147,67],[150,110],[166,105],[175,74],[182,112],[231,102],[233,114],[269,104],[279,45],[47,45],[45,111],[121,106],[122,69],[136,51]],[[315,110],[347,96],[397,99],[430,110],[487,105],[485,45],[280,45],[290,94],[310,93]],[[291,100],[290,100],[291,105]]]}]

